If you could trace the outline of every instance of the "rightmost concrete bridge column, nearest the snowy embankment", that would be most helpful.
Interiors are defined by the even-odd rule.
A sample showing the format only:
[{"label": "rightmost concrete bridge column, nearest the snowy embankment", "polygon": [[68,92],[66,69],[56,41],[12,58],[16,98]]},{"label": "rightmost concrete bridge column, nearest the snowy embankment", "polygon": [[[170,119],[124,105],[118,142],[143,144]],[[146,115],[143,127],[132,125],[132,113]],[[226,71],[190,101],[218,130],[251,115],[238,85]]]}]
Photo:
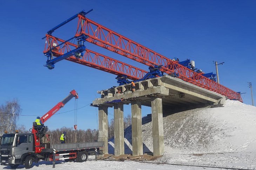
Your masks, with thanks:
[{"label": "rightmost concrete bridge column, nearest the snowy embankment", "polygon": [[163,144],[163,106],[162,99],[151,98],[152,110],[152,134],[153,134],[153,155],[160,156],[164,153]]}]

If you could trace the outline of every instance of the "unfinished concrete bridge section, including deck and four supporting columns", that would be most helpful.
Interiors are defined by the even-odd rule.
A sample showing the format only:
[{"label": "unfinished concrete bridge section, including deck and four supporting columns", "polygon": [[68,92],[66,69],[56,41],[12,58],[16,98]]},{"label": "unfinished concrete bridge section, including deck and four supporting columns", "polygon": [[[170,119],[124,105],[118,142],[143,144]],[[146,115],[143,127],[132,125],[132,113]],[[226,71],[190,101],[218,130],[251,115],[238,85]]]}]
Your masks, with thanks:
[{"label": "unfinished concrete bridge section, including deck and four supporting columns", "polygon": [[[114,120],[121,121],[115,123],[114,129],[115,140],[115,155],[123,154],[123,104],[132,104],[132,138],[133,138],[133,155],[139,155],[142,151],[142,133],[141,133],[141,105],[150,106],[152,110],[153,123],[153,153],[154,156],[159,156],[164,153],[163,143],[163,112],[181,108],[191,109],[196,107],[206,107],[209,105],[223,105],[226,97],[205,88],[194,84],[184,82],[181,79],[174,78],[168,75],[153,79],[143,80],[135,83],[135,92],[131,91],[130,84],[125,84],[117,87],[112,87],[107,90],[98,91],[101,98],[93,101],[91,106],[104,107],[104,111],[99,111],[100,127],[106,127],[106,108],[115,106]],[[99,140],[106,141],[105,128],[99,132]],[[101,136],[102,134],[102,136]],[[107,145],[107,144],[105,144]],[[118,148],[116,150],[116,148]],[[105,151],[107,152],[107,151]]]}]

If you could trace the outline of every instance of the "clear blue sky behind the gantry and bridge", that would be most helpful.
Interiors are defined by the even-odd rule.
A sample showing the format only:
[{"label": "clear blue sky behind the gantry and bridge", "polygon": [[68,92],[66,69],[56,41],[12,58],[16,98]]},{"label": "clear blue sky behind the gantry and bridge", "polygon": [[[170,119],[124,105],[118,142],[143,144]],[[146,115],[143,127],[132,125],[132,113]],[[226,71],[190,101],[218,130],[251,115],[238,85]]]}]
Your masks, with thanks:
[{"label": "clear blue sky behind the gantry and bridge", "polygon": [[[181,0],[181,1],[0,1],[0,104],[18,99],[23,115],[43,115],[68,93],[79,93],[78,107],[99,98],[97,90],[116,86],[115,75],[69,61],[55,69],[43,66],[45,33],[82,9],[94,11],[89,19],[106,26],[160,54],[180,60],[193,59],[196,68],[215,72],[219,66],[220,83],[242,94],[251,104],[252,82],[256,100],[256,1]],[[77,20],[56,30],[60,38],[74,36]],[[86,47],[147,70],[147,66],[93,44]],[[60,112],[74,109],[70,100]],[[142,115],[150,108],[143,107]],[[113,114],[113,108],[109,109]],[[109,114],[109,119],[113,118]],[[124,106],[124,115],[130,105]],[[35,116],[20,116],[18,125],[32,126]],[[74,111],[54,115],[46,123],[50,129],[73,127]],[[97,129],[97,109],[78,110],[80,129]]]}]

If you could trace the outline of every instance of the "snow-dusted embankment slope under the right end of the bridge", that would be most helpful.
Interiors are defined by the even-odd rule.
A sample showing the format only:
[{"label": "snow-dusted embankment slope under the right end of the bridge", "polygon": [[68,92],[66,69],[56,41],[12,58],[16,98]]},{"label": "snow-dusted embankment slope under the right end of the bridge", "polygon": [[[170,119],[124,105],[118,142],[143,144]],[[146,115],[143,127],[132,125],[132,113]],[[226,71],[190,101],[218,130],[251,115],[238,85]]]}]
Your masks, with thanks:
[{"label": "snow-dusted embankment slope under the right end of the bridge", "polygon": [[[256,107],[227,100],[224,107],[198,108],[163,119],[167,153],[256,151]],[[151,123],[143,127],[149,145]]]}]

